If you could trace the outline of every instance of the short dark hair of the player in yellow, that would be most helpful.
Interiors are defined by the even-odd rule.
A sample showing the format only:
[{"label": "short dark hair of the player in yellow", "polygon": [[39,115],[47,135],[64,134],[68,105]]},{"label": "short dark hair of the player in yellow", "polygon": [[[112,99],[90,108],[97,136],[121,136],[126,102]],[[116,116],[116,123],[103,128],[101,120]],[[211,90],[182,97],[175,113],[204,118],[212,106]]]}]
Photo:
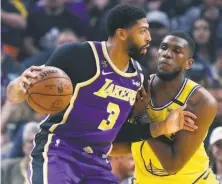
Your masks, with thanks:
[{"label": "short dark hair of the player in yellow", "polygon": [[186,40],[188,42],[188,46],[189,46],[189,50],[190,50],[189,56],[190,56],[190,58],[193,57],[194,52],[195,52],[195,43],[188,33],[182,32],[182,31],[175,31],[175,32],[171,32],[171,33],[167,34],[167,36],[169,36],[169,35],[176,36],[176,37]]}]

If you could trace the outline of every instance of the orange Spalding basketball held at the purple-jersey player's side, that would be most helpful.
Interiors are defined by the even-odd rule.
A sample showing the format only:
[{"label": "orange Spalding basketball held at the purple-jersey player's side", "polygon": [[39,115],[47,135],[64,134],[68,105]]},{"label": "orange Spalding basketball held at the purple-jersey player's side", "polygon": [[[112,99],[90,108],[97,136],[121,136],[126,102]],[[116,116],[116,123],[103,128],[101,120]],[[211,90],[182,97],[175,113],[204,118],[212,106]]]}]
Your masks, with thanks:
[{"label": "orange Spalding basketball held at the purple-jersey player's side", "polygon": [[64,110],[73,93],[73,85],[69,76],[59,68],[46,66],[37,72],[35,79],[30,79],[25,98],[36,112],[55,114]]}]

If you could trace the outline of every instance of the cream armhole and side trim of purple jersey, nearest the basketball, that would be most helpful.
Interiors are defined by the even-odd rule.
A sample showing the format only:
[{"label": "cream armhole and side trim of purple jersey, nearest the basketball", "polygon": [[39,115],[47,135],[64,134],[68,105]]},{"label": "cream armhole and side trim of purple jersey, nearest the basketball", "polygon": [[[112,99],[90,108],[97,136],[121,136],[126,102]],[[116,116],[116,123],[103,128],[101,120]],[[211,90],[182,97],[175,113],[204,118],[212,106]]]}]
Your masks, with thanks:
[{"label": "cream armhole and side trim of purple jersey, nearest the basketball", "polygon": [[91,79],[89,79],[89,80],[87,80],[87,81],[85,81],[85,82],[78,83],[78,84],[76,85],[74,94],[73,94],[73,96],[72,96],[72,98],[71,98],[71,101],[70,101],[70,105],[69,105],[69,107],[67,108],[67,110],[66,110],[66,112],[65,112],[65,114],[64,114],[64,116],[63,116],[62,121],[61,121],[60,123],[57,123],[57,124],[52,125],[52,127],[49,129],[50,132],[53,132],[58,125],[65,124],[65,122],[66,122],[67,119],[68,119],[68,116],[69,116],[70,112],[72,111],[72,109],[73,109],[73,107],[74,107],[74,105],[75,105],[75,100],[76,100],[76,98],[77,98],[77,96],[78,96],[78,93],[79,93],[80,88],[85,87],[85,86],[93,83],[93,82],[99,77],[99,75],[100,75],[100,63],[99,63],[99,56],[98,56],[96,47],[95,47],[95,45],[94,45],[93,42],[88,42],[88,43],[89,43],[90,46],[92,47],[92,50],[93,50],[93,53],[94,53],[94,57],[95,57],[95,60],[96,60],[96,67],[97,67],[96,75],[93,76]]}]

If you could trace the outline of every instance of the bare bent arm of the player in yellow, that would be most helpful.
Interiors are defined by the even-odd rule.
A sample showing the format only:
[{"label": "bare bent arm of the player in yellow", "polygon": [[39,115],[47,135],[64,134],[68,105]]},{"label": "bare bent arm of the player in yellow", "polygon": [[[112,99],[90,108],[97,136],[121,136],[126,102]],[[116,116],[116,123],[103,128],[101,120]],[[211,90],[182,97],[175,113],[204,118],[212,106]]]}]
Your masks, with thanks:
[{"label": "bare bent arm of the player in yellow", "polygon": [[217,102],[208,91],[200,88],[188,101],[188,110],[197,116],[196,131],[183,130],[176,133],[172,145],[157,139],[147,141],[169,174],[175,174],[182,169],[202,144],[216,116]]}]

